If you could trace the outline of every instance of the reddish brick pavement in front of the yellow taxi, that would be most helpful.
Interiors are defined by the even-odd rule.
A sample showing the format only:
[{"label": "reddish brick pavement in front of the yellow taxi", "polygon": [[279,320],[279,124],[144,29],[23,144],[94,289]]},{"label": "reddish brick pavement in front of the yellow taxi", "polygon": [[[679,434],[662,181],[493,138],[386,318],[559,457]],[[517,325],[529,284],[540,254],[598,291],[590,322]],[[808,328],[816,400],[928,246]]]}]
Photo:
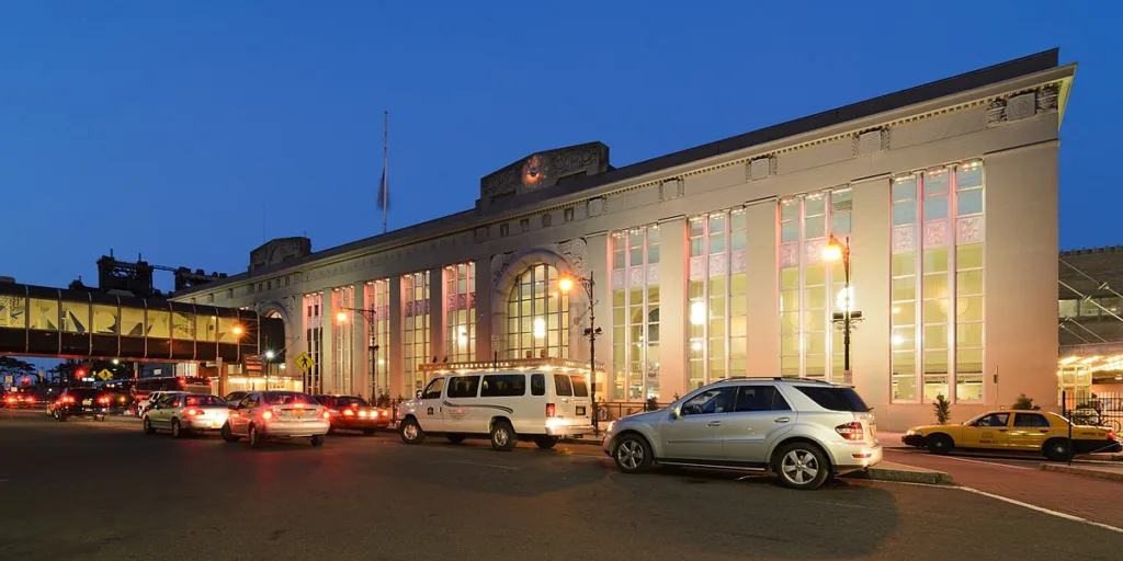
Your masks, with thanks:
[{"label": "reddish brick pavement in front of the yellow taxi", "polygon": [[886,460],[950,473],[956,484],[1123,528],[1123,484],[984,460],[887,450]]}]

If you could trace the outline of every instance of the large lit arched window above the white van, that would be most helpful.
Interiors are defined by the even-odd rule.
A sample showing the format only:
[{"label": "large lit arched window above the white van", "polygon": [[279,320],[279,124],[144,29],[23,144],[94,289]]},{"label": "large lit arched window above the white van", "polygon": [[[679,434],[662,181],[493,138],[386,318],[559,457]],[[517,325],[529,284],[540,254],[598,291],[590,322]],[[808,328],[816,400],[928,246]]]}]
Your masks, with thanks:
[{"label": "large lit arched window above the white van", "polygon": [[508,358],[569,357],[569,296],[558,291],[558,272],[535,265],[514,278],[508,296]]}]

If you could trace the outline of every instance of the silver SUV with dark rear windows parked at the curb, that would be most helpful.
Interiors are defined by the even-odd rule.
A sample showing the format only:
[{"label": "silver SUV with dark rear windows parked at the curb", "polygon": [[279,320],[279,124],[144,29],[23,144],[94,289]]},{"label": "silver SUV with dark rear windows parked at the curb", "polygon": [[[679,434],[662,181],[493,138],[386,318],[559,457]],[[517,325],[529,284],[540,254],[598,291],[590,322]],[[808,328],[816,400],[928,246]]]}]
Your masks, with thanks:
[{"label": "silver SUV with dark rear windows parked at the curb", "polygon": [[602,448],[624,473],[654,465],[772,471],[787,487],[815,489],[882,461],[876,430],[852,387],[730,378],[612,422]]}]

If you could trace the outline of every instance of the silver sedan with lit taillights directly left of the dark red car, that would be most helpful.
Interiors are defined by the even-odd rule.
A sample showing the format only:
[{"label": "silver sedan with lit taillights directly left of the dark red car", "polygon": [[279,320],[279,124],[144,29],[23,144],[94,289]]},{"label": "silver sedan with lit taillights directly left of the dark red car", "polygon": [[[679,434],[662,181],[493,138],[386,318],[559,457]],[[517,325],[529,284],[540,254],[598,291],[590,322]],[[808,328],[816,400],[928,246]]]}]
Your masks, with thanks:
[{"label": "silver sedan with lit taillights directly left of the dark red car", "polygon": [[270,439],[307,438],[313,447],[323,444],[331,429],[327,407],[301,392],[252,392],[230,410],[222,424],[222,439],[237,442],[249,439],[259,448]]}]

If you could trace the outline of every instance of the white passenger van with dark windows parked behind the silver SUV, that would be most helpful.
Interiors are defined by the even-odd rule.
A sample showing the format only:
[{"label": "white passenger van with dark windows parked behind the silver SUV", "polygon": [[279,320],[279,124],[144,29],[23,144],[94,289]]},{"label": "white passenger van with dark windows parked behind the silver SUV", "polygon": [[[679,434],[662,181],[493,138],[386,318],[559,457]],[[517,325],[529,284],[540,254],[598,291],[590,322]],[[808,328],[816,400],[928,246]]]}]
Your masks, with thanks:
[{"label": "white passenger van with dark windows parked behind the silver SUV", "polygon": [[451,442],[491,438],[495,450],[518,441],[554,448],[559,439],[593,432],[592,401],[584,376],[544,370],[496,370],[435,377],[398,408],[402,442],[429,434]]}]

